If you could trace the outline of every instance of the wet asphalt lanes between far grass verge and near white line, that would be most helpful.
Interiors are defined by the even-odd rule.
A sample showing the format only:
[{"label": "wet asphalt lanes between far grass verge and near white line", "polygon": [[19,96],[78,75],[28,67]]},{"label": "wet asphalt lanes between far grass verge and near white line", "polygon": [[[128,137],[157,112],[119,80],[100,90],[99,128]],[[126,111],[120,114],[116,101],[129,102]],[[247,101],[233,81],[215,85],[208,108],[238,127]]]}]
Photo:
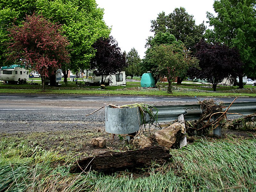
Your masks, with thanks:
[{"label": "wet asphalt lanes between far grass verge and near white line", "polygon": [[[166,97],[124,95],[0,95],[1,110],[95,110],[106,104],[126,105],[146,103],[153,106],[195,104],[198,100],[214,99],[232,102],[224,97]],[[256,98],[237,98],[236,102],[256,101]]]}]

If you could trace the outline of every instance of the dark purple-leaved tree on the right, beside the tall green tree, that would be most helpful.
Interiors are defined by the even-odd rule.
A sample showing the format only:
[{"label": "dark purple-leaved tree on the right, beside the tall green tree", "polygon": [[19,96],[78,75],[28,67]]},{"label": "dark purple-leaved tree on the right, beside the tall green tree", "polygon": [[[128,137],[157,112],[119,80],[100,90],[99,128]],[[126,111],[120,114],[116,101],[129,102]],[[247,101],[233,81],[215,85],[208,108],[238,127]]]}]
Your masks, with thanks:
[{"label": "dark purple-leaved tree on the right, beside the tall green tree", "polygon": [[196,57],[199,59],[199,69],[191,69],[192,76],[211,81],[213,91],[224,78],[237,76],[242,68],[240,56],[236,48],[228,48],[222,44],[209,44],[200,41],[196,45]]}]

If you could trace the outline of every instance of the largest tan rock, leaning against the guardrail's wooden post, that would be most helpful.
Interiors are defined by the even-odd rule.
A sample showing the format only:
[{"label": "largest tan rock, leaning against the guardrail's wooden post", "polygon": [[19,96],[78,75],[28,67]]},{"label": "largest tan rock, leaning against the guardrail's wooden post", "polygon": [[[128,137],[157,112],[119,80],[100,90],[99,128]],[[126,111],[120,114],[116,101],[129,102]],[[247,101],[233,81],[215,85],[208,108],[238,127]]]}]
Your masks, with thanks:
[{"label": "largest tan rock, leaning against the guardrail's wooden post", "polygon": [[174,123],[165,129],[155,132],[155,139],[158,145],[172,148],[177,141],[177,137],[180,136],[181,128],[182,125],[180,123]]}]

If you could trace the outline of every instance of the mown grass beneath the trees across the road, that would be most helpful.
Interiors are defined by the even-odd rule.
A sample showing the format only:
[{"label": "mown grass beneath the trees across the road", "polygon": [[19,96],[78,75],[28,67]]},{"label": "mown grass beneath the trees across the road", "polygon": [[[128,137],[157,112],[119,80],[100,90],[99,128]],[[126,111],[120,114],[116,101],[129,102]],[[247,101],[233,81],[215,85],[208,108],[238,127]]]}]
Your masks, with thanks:
[{"label": "mown grass beneath the trees across the road", "polygon": [[[35,78],[33,78],[35,79]],[[0,83],[0,93],[29,93],[29,94],[123,94],[123,95],[159,95],[159,96],[206,96],[206,97],[236,97],[236,96],[249,96],[255,97],[255,93],[221,93],[221,92],[178,92],[174,91],[172,94],[166,91],[139,91],[137,87],[140,87],[140,82],[127,82],[125,86],[106,86],[105,89],[100,89],[100,86],[85,86],[83,82],[68,82],[65,84],[61,82],[59,86],[52,87],[46,85],[46,90],[42,91],[41,81],[34,81],[38,83],[35,84],[3,84]],[[30,82],[28,82],[30,83]],[[205,87],[206,84],[186,84],[182,83],[180,85],[175,84],[180,88],[189,88],[197,90],[212,90],[212,88]],[[167,86],[166,83],[162,86]],[[124,89],[125,88],[125,89]],[[245,85],[244,88],[254,89],[254,86]],[[222,86],[218,85],[217,91],[227,91],[231,89],[237,89],[237,87]]]}]

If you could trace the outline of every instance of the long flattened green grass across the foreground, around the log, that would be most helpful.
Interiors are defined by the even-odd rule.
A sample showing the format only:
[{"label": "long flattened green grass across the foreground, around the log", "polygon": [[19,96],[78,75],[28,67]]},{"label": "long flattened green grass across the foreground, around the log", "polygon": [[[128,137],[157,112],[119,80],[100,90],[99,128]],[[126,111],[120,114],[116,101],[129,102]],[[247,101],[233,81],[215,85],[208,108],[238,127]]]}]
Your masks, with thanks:
[{"label": "long flattened green grass across the foreground, around the log", "polygon": [[255,140],[198,140],[170,151],[163,166],[139,173],[70,174],[73,151],[60,155],[26,138],[0,139],[0,191],[255,191]]}]

